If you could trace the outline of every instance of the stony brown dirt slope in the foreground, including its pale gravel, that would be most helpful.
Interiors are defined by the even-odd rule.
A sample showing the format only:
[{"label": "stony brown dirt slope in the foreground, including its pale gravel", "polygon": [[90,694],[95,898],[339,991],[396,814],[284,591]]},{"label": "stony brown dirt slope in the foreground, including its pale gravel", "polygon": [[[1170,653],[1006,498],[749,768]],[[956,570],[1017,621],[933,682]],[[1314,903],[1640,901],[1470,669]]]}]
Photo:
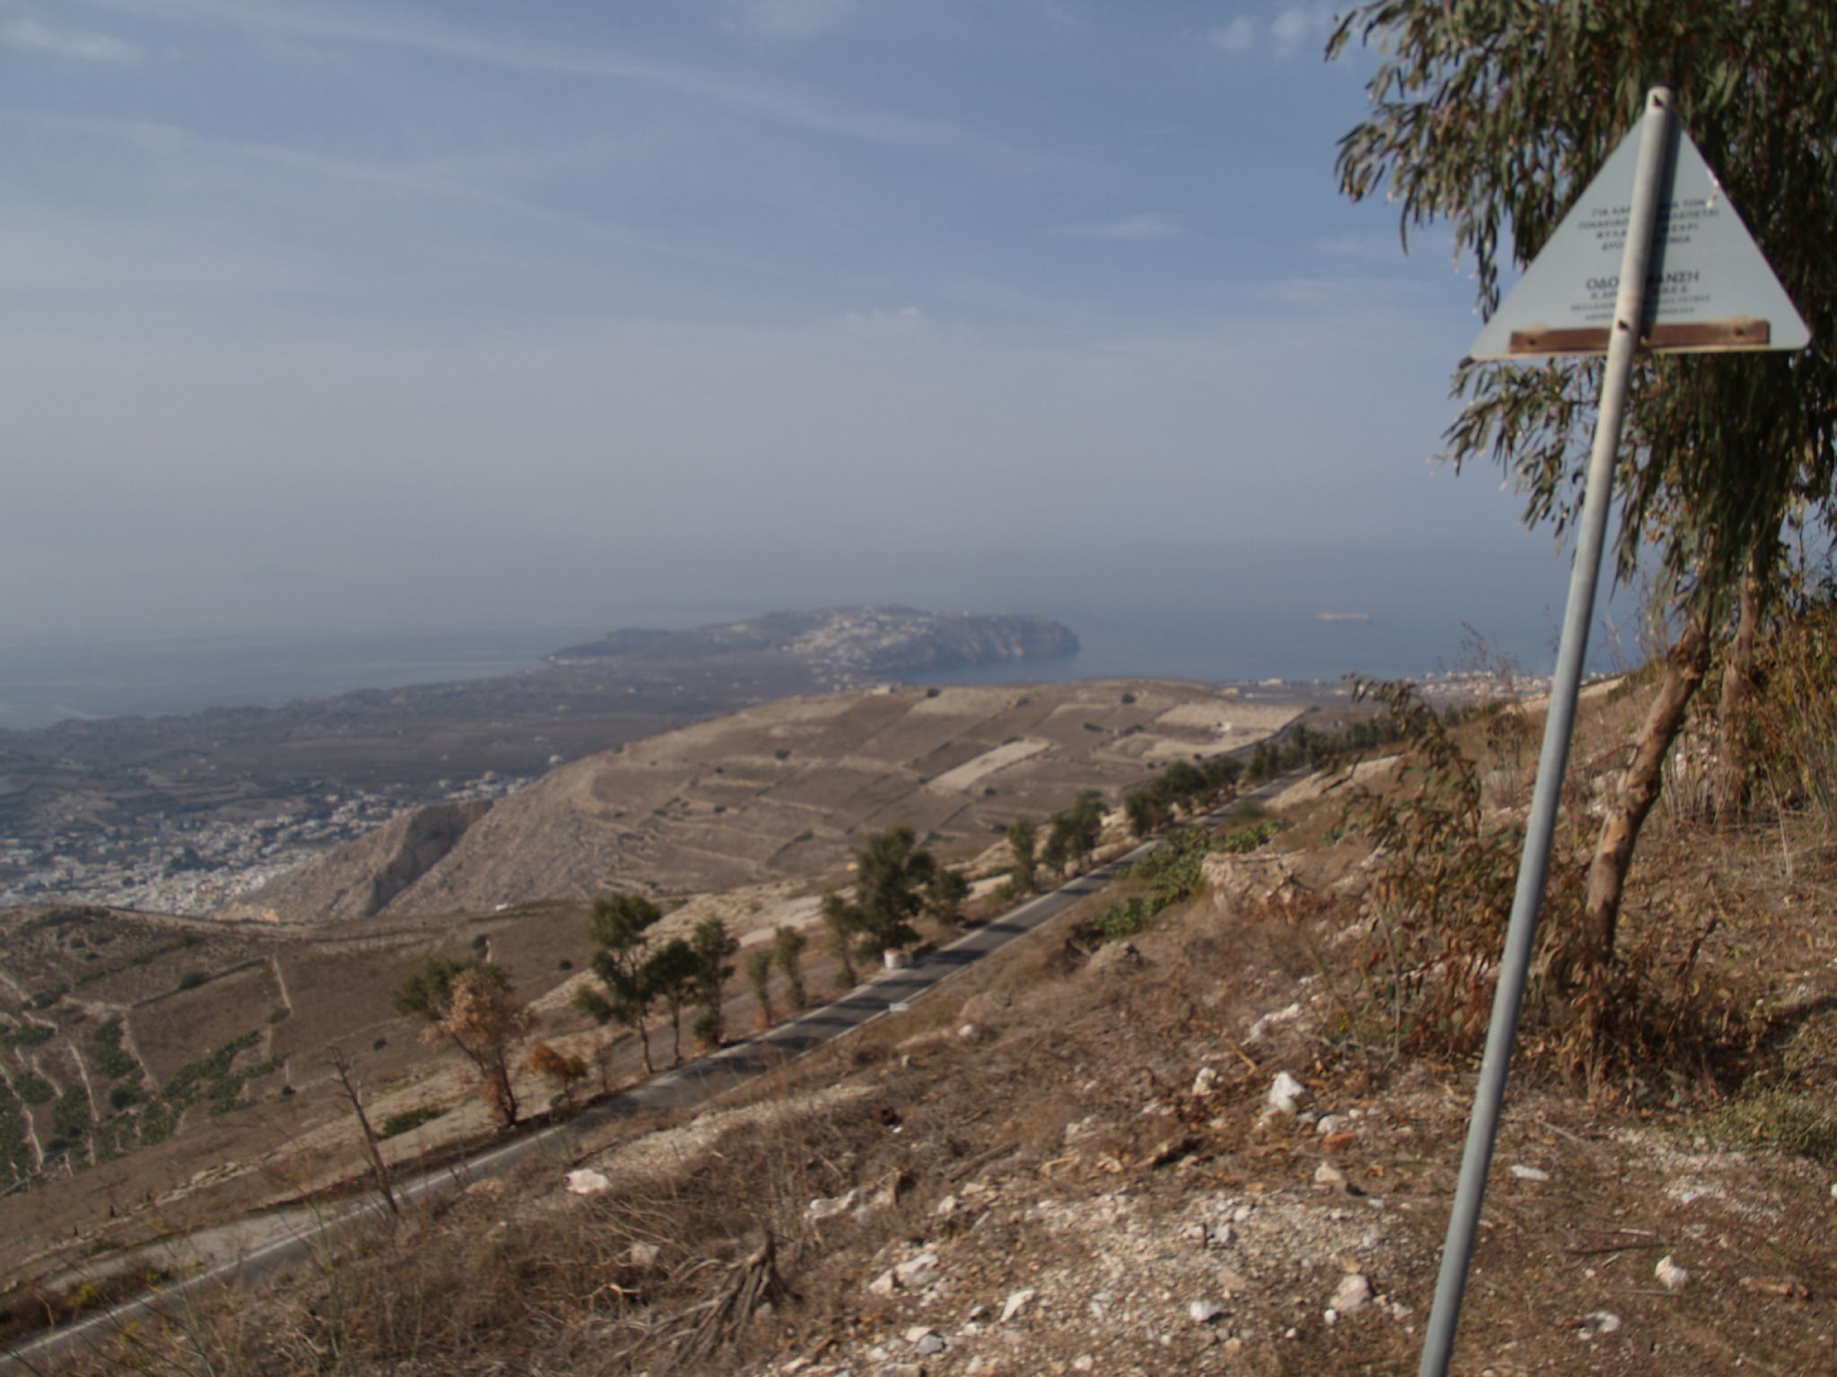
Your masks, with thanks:
[{"label": "stony brown dirt slope in the foreground, including its pale gravel", "polygon": [[[1714,911],[1703,980],[1760,1036],[1736,1076],[1631,1092],[1527,1061],[1455,1371],[1828,1373],[1837,839],[1659,815],[1640,856],[1628,940]],[[1367,874],[1326,791],[1126,942],[1089,938],[1093,898],[691,1125],[369,1237],[344,1285],[389,1313],[298,1276],[186,1342],[233,1333],[246,1371],[334,1337],[366,1373],[1414,1371],[1473,1076],[1372,1021]]]}]

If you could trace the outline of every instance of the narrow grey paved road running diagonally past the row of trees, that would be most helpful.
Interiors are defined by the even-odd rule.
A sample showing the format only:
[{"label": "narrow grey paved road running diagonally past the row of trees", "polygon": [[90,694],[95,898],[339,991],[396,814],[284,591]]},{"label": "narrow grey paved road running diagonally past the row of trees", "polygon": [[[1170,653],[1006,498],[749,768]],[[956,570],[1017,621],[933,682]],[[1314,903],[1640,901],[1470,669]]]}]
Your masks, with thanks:
[{"label": "narrow grey paved road running diagonally past the row of trees", "polygon": [[[1207,813],[1203,821],[1222,823],[1247,804],[1262,802],[1264,799],[1273,797],[1297,778],[1306,777],[1306,773],[1308,771],[1295,771],[1293,775],[1271,780],[1258,789],[1240,795],[1223,808]],[[1005,912],[996,922],[970,929],[955,942],[937,947],[904,969],[887,971],[874,980],[851,990],[832,1004],[810,1010],[808,1013],[803,1013],[790,1023],[783,1023],[772,1032],[761,1034],[751,1041],[683,1063],[682,1067],[665,1072],[663,1076],[656,1076],[643,1085],[621,1091],[619,1094],[584,1109],[568,1124],[538,1129],[536,1133],[489,1148],[487,1151],[463,1162],[399,1181],[395,1193],[404,1203],[446,1195],[463,1190],[472,1181],[500,1175],[536,1157],[549,1159],[557,1164],[557,1168],[560,1168],[577,1159],[579,1138],[595,1127],[604,1127],[615,1120],[648,1114],[659,1109],[687,1109],[707,1103],[744,1081],[814,1052],[825,1043],[832,1043],[834,1039],[873,1023],[874,1019],[906,1008],[915,999],[937,990],[939,984],[959,971],[968,969],[983,957],[999,951],[1009,946],[1009,942],[1023,938],[1053,922],[1078,900],[1100,894],[1115,881],[1119,870],[1133,865],[1159,845],[1159,841],[1143,843],[1122,856],[1086,870],[1082,876],[1065,881],[1058,889],[1029,900],[1018,909]],[[61,1355],[70,1353],[79,1346],[107,1340],[136,1318],[147,1318],[160,1311],[173,1311],[200,1291],[219,1289],[237,1282],[254,1282],[266,1276],[279,1267],[309,1258],[314,1248],[323,1247],[331,1234],[369,1219],[380,1210],[382,1204],[375,1199],[360,1199],[320,1214],[288,1212],[283,1215],[270,1215],[268,1219],[274,1228],[283,1230],[279,1237],[270,1237],[266,1243],[259,1243],[233,1258],[209,1263],[184,1282],[125,1300],[119,1305],[97,1311],[96,1315],[64,1326],[62,1329],[53,1329],[46,1335],[0,1351],[0,1373],[42,1371],[46,1364],[57,1360]]]}]

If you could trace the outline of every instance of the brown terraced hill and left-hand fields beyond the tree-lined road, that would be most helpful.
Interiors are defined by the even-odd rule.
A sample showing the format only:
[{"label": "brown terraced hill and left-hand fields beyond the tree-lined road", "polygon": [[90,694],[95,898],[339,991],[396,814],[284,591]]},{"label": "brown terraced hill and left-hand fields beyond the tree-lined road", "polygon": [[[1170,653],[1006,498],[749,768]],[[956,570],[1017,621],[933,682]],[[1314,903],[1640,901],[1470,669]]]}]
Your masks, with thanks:
[{"label": "brown terraced hill and left-hand fields beyond the tree-lined road", "polygon": [[[849,850],[874,830],[930,828],[931,845],[963,861],[1012,817],[1064,808],[1086,786],[1133,784],[1155,744],[1212,753],[1301,711],[1244,703],[1231,733],[1157,725],[1183,703],[1214,701],[1233,703],[1157,683],[794,700],[580,762],[489,812],[472,800],[399,817],[336,865],[283,879],[305,896],[285,900],[285,916],[305,922],[279,922],[274,905],[213,920],[96,905],[0,912],[0,1190],[15,1184],[0,1199],[0,1280],[342,1181],[355,1125],[331,1081],[334,1045],[378,1124],[441,1113],[393,1136],[391,1155],[487,1131],[467,1074],[389,1006],[432,953],[502,964],[542,1012],[546,1039],[599,1058],[606,1034],[569,1002],[586,979],[599,881],[663,896],[659,935],[709,914],[742,940],[808,927],[817,892],[847,883]],[[1003,753],[1021,731],[1043,745]],[[964,764],[970,775],[939,778]],[[595,852],[625,830],[619,813],[643,845]],[[614,859],[588,865],[577,848]],[[492,889],[461,903],[478,874]],[[579,898],[538,898],[557,890]],[[457,896],[452,907],[428,898],[443,892]],[[413,907],[400,903],[410,894]],[[819,946],[812,933],[812,988],[830,979]],[[540,1087],[531,1096],[546,1102]]]}]

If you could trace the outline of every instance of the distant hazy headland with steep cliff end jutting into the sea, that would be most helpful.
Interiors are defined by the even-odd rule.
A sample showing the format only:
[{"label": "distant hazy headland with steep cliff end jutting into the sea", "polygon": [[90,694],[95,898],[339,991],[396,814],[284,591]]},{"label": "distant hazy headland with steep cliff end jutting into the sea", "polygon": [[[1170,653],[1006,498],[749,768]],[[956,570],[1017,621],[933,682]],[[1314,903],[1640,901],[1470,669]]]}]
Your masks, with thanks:
[{"label": "distant hazy headland with steep cliff end jutting into the sea", "polygon": [[1071,655],[1078,637],[1051,617],[823,608],[773,611],[693,632],[614,632],[557,650],[557,665],[604,659],[704,659],[779,654],[827,674],[898,677],[997,659]]}]

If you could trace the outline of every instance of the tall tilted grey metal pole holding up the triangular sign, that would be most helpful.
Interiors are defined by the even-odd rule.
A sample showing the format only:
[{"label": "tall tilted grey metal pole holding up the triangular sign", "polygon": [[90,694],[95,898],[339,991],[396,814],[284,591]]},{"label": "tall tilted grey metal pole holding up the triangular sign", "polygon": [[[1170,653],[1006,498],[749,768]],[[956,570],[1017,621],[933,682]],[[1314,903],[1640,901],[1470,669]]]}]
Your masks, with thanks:
[{"label": "tall tilted grey metal pole holding up the triangular sign", "polygon": [[1587,488],[1582,498],[1582,531],[1576,540],[1576,564],[1569,577],[1563,639],[1556,652],[1556,677],[1550,681],[1550,712],[1543,723],[1538,786],[1530,799],[1530,821],[1525,828],[1525,857],[1519,861],[1517,894],[1512,900],[1512,922],[1506,927],[1505,957],[1499,962],[1492,1024],[1486,1030],[1486,1052],[1481,1059],[1479,1087],[1473,1092],[1473,1118],[1468,1124],[1468,1146],[1460,1159],[1460,1184],[1455,1188],[1455,1208],[1448,1219],[1442,1272],[1435,1283],[1435,1307],[1429,1311],[1429,1333],[1422,1346],[1418,1377],[1446,1377],[1448,1359],[1455,1344],[1455,1326],[1460,1320],[1460,1298],[1468,1287],[1473,1232],[1479,1225],[1481,1201],[1486,1195],[1486,1171],[1492,1168],[1493,1136],[1499,1131],[1499,1105],[1505,1100],[1517,1015],[1525,1002],[1525,980],[1530,973],[1532,944],[1538,936],[1538,909],[1543,903],[1543,881],[1550,863],[1556,802],[1561,795],[1563,769],[1569,764],[1569,734],[1576,720],[1582,655],[1587,650],[1589,621],[1595,617],[1595,584],[1600,578],[1602,543],[1607,534],[1607,507],[1613,498],[1613,466],[1620,450],[1626,391],[1633,376],[1633,354],[1639,351],[1640,319],[1646,308],[1646,268],[1651,259],[1653,226],[1659,218],[1659,198],[1664,187],[1670,132],[1672,92],[1666,86],[1653,86],[1646,95],[1646,125],[1639,141],[1639,171],[1633,174],[1633,206],[1626,226],[1626,252],[1620,257],[1618,299],[1607,336],[1607,369],[1602,378],[1595,448],[1589,453]]}]

